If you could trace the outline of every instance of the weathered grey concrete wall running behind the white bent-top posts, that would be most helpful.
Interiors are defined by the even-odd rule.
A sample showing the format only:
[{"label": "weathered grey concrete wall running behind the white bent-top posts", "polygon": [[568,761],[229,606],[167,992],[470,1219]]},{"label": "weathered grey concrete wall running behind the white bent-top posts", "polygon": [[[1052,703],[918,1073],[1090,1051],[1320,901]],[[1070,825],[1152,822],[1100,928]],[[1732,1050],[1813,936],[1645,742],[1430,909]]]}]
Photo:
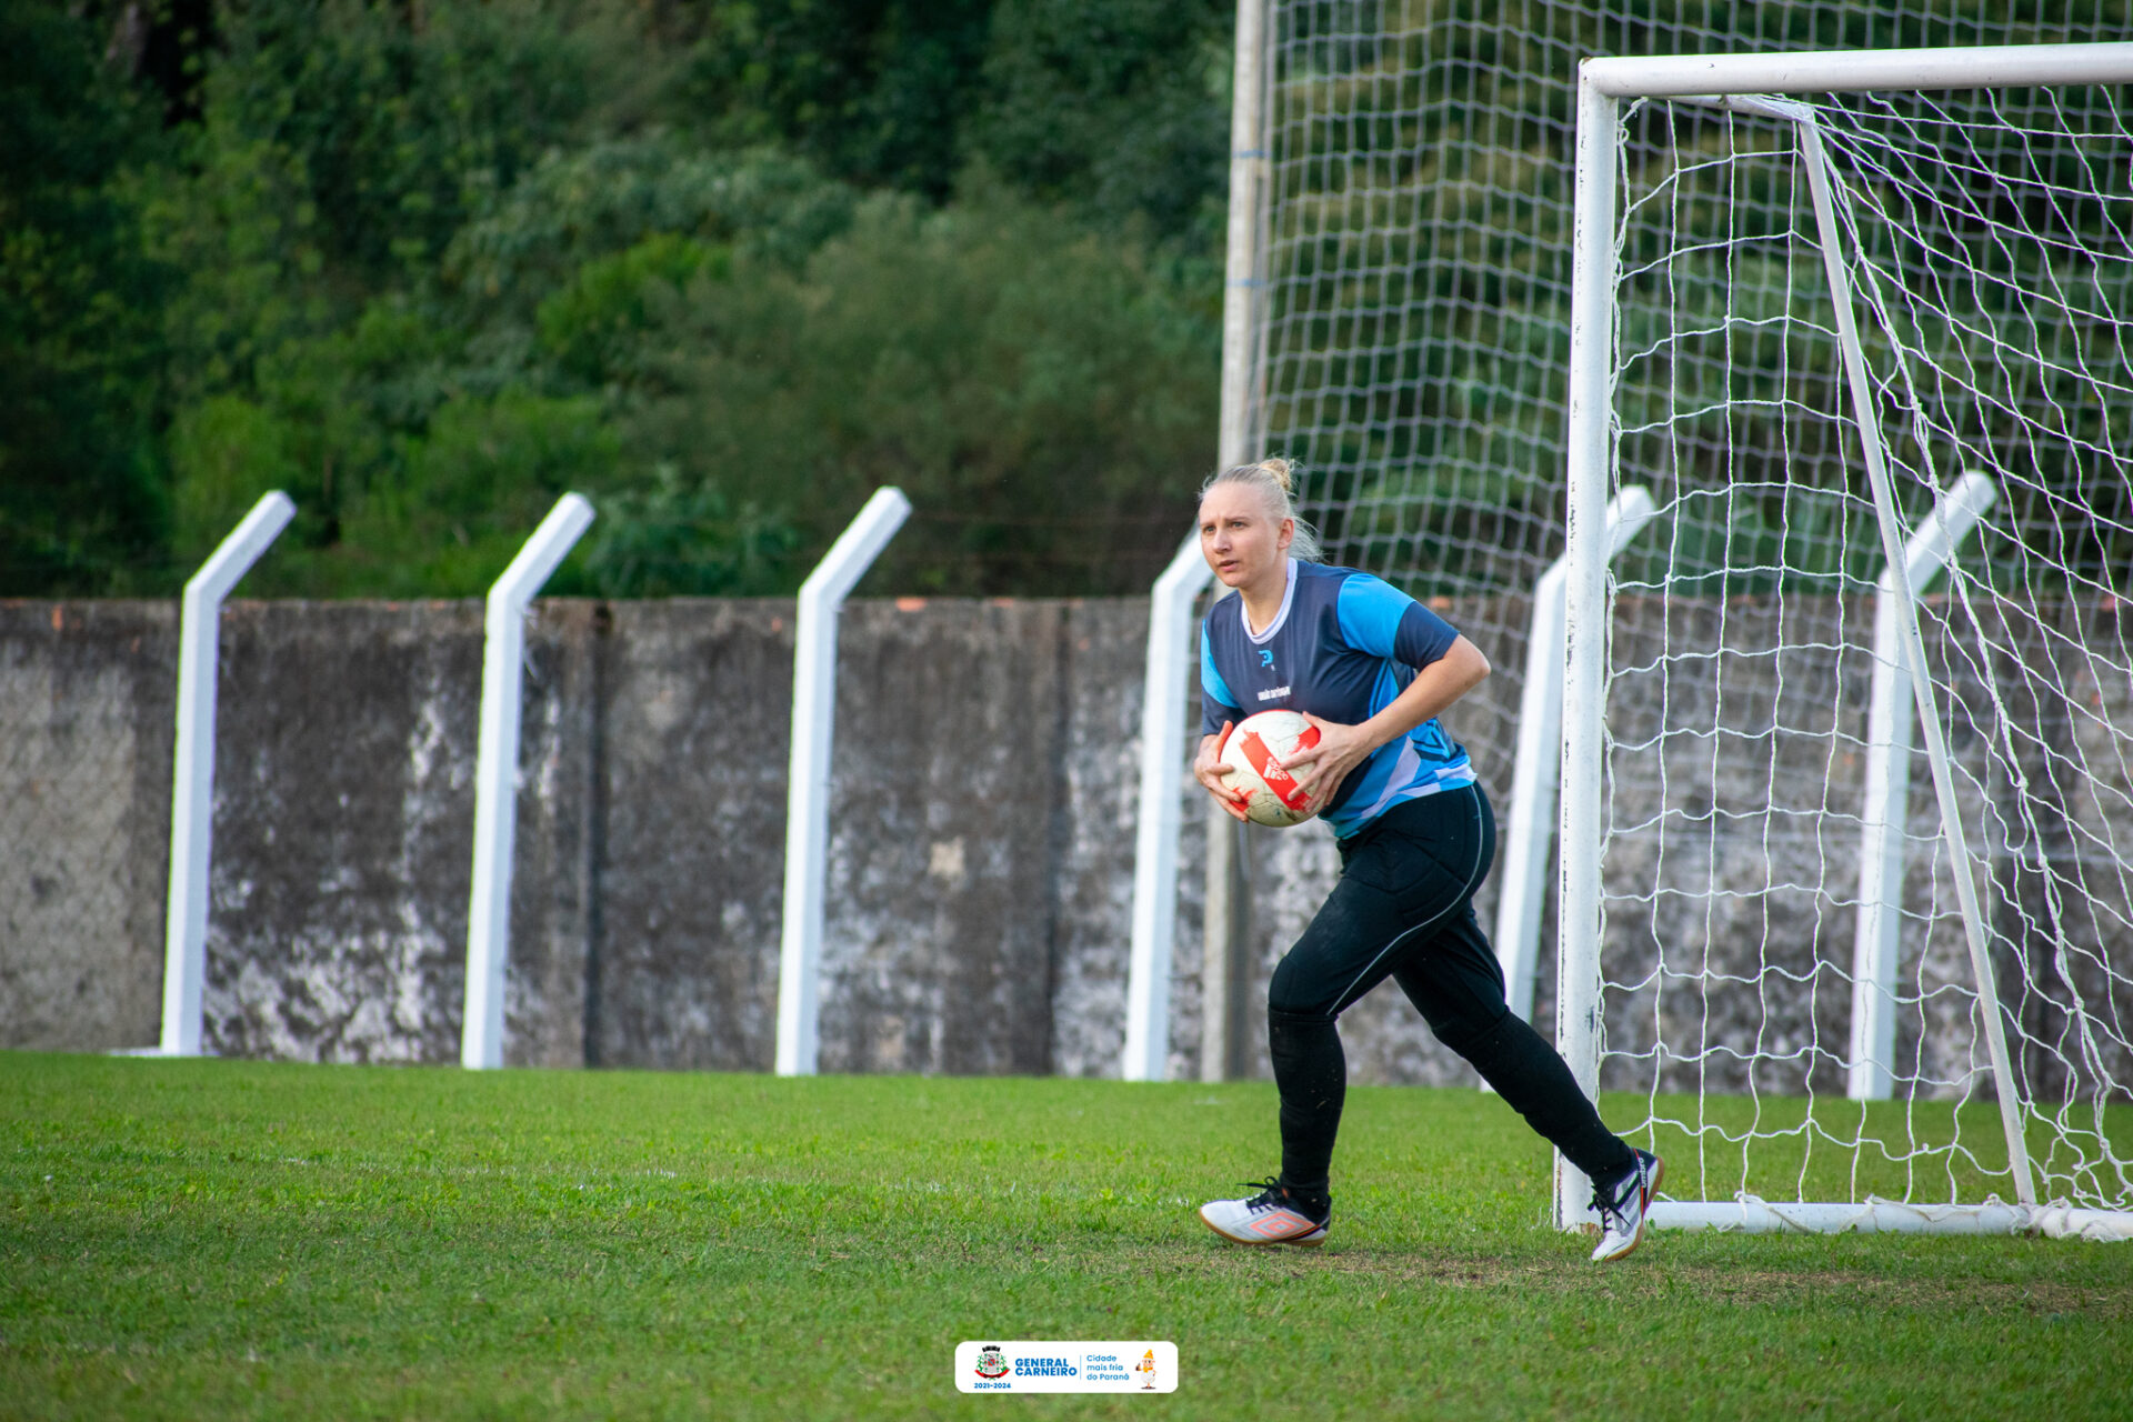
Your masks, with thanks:
[{"label": "weathered grey concrete wall running behind the white bent-top posts", "polygon": [[[1448,723],[1502,808],[1525,603],[1442,612],[1497,665]],[[1800,601],[1783,618],[1745,601],[1617,608],[1610,1045],[1647,1051],[1664,1021],[1677,1047],[1719,1049],[1702,1070],[1721,1085],[1839,1087],[1869,661],[1834,646],[1856,640],[1864,616]],[[1964,661],[1975,642],[1969,627],[1943,627],[1935,655],[1956,689],[1964,819],[1979,825],[2005,998],[2039,1040],[2058,1043],[2033,1053],[2033,1077],[2052,1092],[2067,1083],[2065,1057],[2084,1051],[2067,1034],[2065,981],[2133,1015],[2133,1000],[2120,1002],[2133,904],[2110,840],[2133,808],[2114,759],[2133,708],[2122,686],[2097,680],[2124,665],[2124,633],[2114,616],[2020,648],[1999,629],[1994,644],[2009,648],[1999,667]],[[162,603],[0,605],[0,1047],[158,1036],[175,646]],[[1116,1074],[1143,646],[1137,599],[847,608],[823,1070]],[[1662,652],[1711,674],[1677,676],[1662,695],[1636,672]],[[456,1060],[480,655],[471,601],[226,608],[211,1051]],[[2014,776],[1994,744],[2033,708],[2003,704],[2041,672],[2067,678],[2090,710],[2033,738]],[[1182,669],[1180,693],[1188,680]],[[791,603],[538,603],[508,1062],[770,1068],[789,689]],[[1711,727],[1726,729],[1726,757],[1713,757]],[[2056,821],[2037,795],[2056,763],[2052,738],[2095,742],[2088,759],[2105,767]],[[1982,1049],[1964,998],[1935,991],[1967,983],[1969,968],[1922,761],[1913,782],[1918,912],[1905,925],[1911,1000],[1898,1040],[1958,1094],[1975,1089]],[[1188,787],[1180,772],[1180,793]],[[1770,802],[1813,814],[1775,829],[1734,819]],[[1199,1070],[1203,825],[1199,812],[1184,821],[1173,1077]],[[1248,870],[1256,1004],[1337,861],[1329,831],[1303,825],[1252,831]],[[2069,885],[2078,895],[2060,891]],[[1491,878],[1482,923],[1495,891]],[[1546,1028],[1553,921],[1542,942]],[[1256,1008],[1248,1021],[1265,1074]],[[1350,1011],[1344,1038],[1357,1081],[1472,1081],[1391,987]],[[1755,1074],[1730,1070],[1726,1051],[1747,1043],[1777,1057]],[[2133,1079],[2120,1040],[2101,1051],[2118,1081]],[[1687,1085],[1691,1068],[1659,1074]],[[1649,1085],[1651,1068],[1632,1060],[1608,1081]]]}]

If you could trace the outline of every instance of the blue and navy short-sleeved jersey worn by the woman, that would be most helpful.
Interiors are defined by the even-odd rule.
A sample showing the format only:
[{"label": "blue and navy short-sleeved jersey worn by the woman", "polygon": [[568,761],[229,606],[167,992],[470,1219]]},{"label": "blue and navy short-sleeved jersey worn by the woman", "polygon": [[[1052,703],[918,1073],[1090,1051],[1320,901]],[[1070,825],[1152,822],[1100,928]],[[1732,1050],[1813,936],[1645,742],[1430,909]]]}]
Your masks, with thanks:
[{"label": "blue and navy short-sleeved jersey worn by the woman", "polygon": [[[1310,712],[1361,725],[1393,704],[1414,674],[1450,650],[1450,623],[1399,588],[1352,567],[1288,561],[1273,625],[1254,633],[1244,595],[1216,601],[1201,625],[1201,733],[1263,710]],[[1350,836],[1404,799],[1474,782],[1465,746],[1433,718],[1378,746],[1348,772],[1320,819]]]}]

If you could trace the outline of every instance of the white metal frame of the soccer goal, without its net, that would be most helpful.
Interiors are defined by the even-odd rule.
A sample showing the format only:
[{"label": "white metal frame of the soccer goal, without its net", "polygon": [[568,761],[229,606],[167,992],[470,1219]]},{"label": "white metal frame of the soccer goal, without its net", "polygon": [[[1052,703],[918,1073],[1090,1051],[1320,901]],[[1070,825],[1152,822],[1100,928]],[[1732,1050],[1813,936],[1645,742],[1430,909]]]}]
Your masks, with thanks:
[{"label": "white metal frame of the soccer goal, without its net", "polygon": [[[1559,1008],[1557,1045],[1587,1096],[1600,1085],[1600,851],[1604,659],[1608,642],[1606,501],[1610,480],[1613,324],[1617,281],[1617,173],[1619,113],[1623,100],[1677,98],[1762,113],[1800,124],[1800,147],[1815,207],[1824,266],[1837,309],[1851,414],[1860,429],[1862,463],[1873,490],[1881,548],[1898,595],[1896,625],[1909,672],[1918,721],[1932,765],[1947,836],[1950,866],[1969,938],[1971,970],[1982,1000],[1994,1000],[1992,959],[1986,951],[1971,855],[1956,812],[1932,680],[1918,629],[1915,588],[1890,495],[1875,401],[1854,324],[1822,158],[1819,132],[1805,107],[1785,94],[1839,94],[1869,90],[1988,90],[2022,85],[2133,83],[2133,45],[2022,45],[1979,49],[1890,49],[1851,53],[1755,53],[1683,58],[1606,58],[1578,66],[1576,198],[1572,254],[1568,490],[1566,490],[1566,605],[1563,731],[1561,731],[1561,912],[1557,930]],[[2009,1151],[2014,1202],[1911,1207],[1886,1200],[1864,1205],[1819,1202],[1659,1202],[1655,1226],[1741,1230],[1932,1230],[2007,1232],[2043,1230],[2090,1237],[2133,1234],[2133,1215],[2114,1211],[2052,1209],[2039,1202],[2024,1145],[2022,1106],[1999,1013],[1982,1013],[1992,1077]],[[1591,1183],[1566,1160],[1555,1164],[1555,1222],[1578,1230],[1593,1222]]]}]

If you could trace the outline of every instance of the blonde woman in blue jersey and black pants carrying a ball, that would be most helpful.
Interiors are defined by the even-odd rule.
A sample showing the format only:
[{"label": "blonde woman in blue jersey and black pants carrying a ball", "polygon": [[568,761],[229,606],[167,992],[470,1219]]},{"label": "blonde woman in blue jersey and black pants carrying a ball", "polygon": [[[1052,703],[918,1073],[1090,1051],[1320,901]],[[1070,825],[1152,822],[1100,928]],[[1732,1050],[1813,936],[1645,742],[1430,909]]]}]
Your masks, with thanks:
[{"label": "blonde woman in blue jersey and black pants carrying a ball", "polygon": [[1201,627],[1201,740],[1192,774],[1231,814],[1222,742],[1250,712],[1288,708],[1318,744],[1284,759],[1333,825],[1342,878],[1273,970],[1267,1047],[1282,1098],[1282,1173],[1244,1200],[1209,1200],[1207,1226],[1244,1245],[1322,1245],[1329,1166],[1348,1089],[1335,1021],[1391,976],[1463,1055],[1593,1181],[1619,1260],[1645,1237],[1659,1160],[1600,1124],[1570,1068],[1504,1002],[1504,970],[1474,919],[1495,857],[1495,817],[1438,714],[1489,676],[1480,650],[1386,582],[1316,563],[1286,460],[1207,480],[1201,552],[1233,588]]}]

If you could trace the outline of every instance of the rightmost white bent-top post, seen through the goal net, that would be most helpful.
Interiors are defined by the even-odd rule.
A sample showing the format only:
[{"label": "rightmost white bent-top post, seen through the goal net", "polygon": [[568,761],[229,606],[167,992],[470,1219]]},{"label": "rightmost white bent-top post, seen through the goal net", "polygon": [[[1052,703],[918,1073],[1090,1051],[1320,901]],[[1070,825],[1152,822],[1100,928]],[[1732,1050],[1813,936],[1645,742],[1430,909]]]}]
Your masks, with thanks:
[{"label": "rightmost white bent-top post, seen through the goal net", "polygon": [[[1941,571],[1992,507],[1999,486],[1964,473],[1903,550],[1911,591]],[[1911,799],[1911,674],[1903,663],[1903,593],[1881,571],[1873,605],[1873,701],[1866,710],[1866,808],[1860,812],[1860,908],[1851,940],[1851,1100],[1888,1100],[1896,1062],[1896,951],[1903,936],[1903,827]]]}]

